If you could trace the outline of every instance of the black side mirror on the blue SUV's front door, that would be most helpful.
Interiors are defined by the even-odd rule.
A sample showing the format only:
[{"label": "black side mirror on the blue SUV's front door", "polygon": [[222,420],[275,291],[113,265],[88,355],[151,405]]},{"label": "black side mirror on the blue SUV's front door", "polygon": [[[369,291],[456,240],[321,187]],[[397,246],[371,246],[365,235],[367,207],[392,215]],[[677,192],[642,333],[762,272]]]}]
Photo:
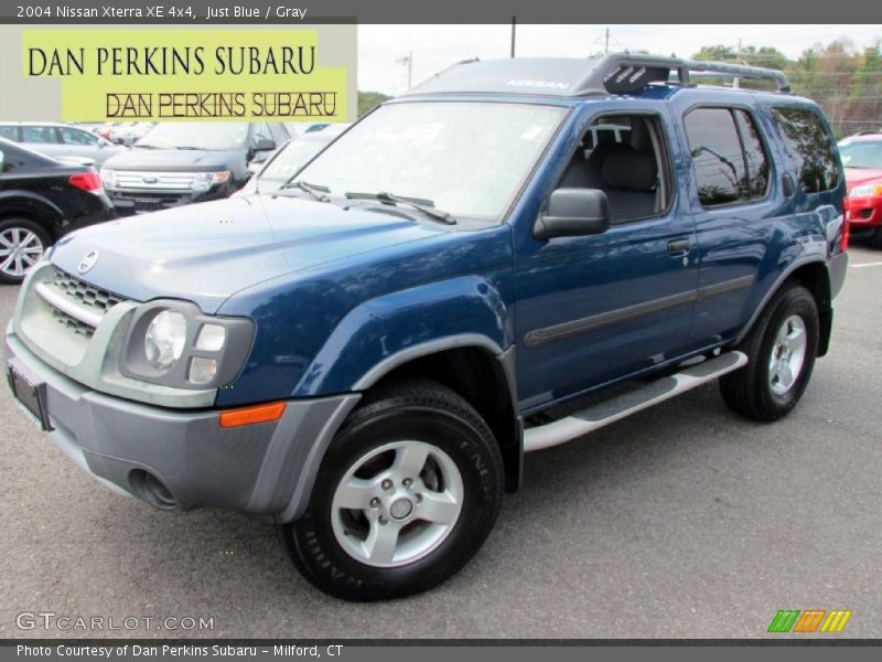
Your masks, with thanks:
[{"label": "black side mirror on the blue SUV's front door", "polygon": [[548,207],[536,220],[533,236],[537,239],[580,237],[602,234],[610,228],[606,194],[596,189],[557,189]]}]

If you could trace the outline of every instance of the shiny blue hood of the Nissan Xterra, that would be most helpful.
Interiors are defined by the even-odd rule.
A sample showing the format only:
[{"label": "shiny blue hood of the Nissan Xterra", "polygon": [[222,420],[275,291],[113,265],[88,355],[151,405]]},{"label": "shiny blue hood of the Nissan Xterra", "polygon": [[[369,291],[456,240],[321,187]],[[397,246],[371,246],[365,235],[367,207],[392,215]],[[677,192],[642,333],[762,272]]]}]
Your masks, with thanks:
[{"label": "shiny blue hood of the Nissan Xterra", "polygon": [[[50,258],[130,299],[187,299],[213,313],[263,280],[443,233],[368,209],[251,195],[94,225],[61,239]],[[92,250],[95,266],[78,274]]]}]

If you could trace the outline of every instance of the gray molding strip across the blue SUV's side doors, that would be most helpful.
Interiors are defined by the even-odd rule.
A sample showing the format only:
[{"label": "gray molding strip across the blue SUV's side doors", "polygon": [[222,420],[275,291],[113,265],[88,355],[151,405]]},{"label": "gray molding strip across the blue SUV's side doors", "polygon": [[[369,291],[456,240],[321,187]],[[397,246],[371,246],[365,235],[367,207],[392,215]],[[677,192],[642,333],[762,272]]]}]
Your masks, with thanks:
[{"label": "gray molding strip across the blue SUV's side doors", "polygon": [[747,288],[752,284],[753,276],[742,276],[731,280],[723,280],[722,282],[714,282],[713,285],[708,285],[697,290],[670,295],[668,297],[662,297],[660,299],[626,306],[625,308],[617,308],[616,310],[592,314],[570,322],[563,322],[562,324],[555,324],[553,327],[536,329],[524,337],[524,344],[528,348],[537,348],[580,333],[596,331],[647,314],[670,310],[671,308],[692,303],[697,300],[728,295]]}]

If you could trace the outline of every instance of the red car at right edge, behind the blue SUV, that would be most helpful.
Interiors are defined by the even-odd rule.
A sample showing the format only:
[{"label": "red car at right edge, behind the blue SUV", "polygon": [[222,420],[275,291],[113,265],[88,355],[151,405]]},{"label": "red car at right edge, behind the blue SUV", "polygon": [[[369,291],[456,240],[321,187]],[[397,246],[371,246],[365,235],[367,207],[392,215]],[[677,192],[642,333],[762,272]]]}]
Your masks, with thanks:
[{"label": "red car at right edge, behind the blue SUV", "polygon": [[851,136],[839,142],[846,167],[846,199],[851,231],[868,231],[882,248],[882,132]]}]

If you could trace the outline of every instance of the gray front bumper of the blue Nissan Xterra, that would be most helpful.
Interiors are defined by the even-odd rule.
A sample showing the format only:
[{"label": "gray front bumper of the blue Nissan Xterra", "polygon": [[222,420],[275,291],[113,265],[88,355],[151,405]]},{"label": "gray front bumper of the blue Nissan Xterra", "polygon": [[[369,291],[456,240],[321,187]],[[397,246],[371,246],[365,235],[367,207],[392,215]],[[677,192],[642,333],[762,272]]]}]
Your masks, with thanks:
[{"label": "gray front bumper of the blue Nissan Xterra", "polygon": [[324,448],[359,398],[289,401],[278,421],[222,428],[216,409],[154,407],[85,387],[11,332],[3,349],[4,370],[11,364],[44,385],[49,436],[67,457],[115,491],[168,510],[212,505],[295,519]]}]

